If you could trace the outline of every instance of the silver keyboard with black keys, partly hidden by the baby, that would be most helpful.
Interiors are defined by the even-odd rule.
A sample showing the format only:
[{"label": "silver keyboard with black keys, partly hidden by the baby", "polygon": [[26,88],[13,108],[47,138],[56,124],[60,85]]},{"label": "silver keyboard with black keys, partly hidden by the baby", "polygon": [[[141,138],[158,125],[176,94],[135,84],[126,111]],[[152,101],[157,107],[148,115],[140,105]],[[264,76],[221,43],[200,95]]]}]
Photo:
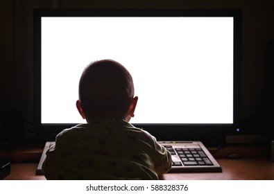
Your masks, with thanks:
[{"label": "silver keyboard with black keys, partly hidden by the baby", "polygon": [[[159,143],[171,152],[172,166],[169,173],[222,172],[221,166],[200,141],[159,141]],[[42,163],[46,157],[46,150],[53,144],[54,141],[46,142],[36,168],[36,175],[43,175]]]}]

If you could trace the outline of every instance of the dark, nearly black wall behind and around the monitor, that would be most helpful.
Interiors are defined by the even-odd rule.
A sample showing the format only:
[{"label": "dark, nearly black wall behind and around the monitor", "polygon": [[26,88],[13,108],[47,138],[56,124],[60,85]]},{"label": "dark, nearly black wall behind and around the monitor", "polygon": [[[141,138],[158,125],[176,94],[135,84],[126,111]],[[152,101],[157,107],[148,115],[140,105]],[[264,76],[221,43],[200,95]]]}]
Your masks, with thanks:
[{"label": "dark, nearly black wall behind and around the monitor", "polygon": [[33,122],[33,8],[241,8],[242,115],[257,119],[268,106],[266,91],[273,89],[266,79],[273,74],[273,6],[273,0],[1,1],[0,110],[19,110]]}]

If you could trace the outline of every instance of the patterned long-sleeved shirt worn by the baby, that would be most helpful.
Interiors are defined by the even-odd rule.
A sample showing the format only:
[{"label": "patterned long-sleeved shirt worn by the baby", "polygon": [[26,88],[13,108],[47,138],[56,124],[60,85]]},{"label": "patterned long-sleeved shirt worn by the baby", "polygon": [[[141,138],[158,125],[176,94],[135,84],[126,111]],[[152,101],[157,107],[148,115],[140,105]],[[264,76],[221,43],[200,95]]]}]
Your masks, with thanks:
[{"label": "patterned long-sleeved shirt worn by the baby", "polygon": [[63,130],[42,165],[46,179],[158,179],[170,168],[154,136],[117,119]]}]

